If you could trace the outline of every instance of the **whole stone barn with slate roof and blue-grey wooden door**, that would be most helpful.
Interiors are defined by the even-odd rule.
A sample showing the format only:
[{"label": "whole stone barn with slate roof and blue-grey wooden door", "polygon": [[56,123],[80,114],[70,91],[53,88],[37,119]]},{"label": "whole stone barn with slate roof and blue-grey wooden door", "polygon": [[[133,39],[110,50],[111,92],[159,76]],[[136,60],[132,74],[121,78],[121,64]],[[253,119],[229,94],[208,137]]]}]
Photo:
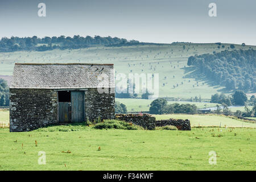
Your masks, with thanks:
[{"label": "whole stone barn with slate roof and blue-grey wooden door", "polygon": [[15,64],[10,131],[113,119],[113,64]]}]

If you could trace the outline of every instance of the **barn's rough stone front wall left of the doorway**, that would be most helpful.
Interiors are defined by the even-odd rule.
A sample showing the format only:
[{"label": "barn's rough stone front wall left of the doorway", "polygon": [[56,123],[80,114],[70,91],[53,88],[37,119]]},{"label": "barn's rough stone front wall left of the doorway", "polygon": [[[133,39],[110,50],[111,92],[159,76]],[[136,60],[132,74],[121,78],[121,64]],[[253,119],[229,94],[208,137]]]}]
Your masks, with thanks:
[{"label": "barn's rough stone front wall left of the doorway", "polygon": [[31,131],[57,123],[57,92],[10,89],[10,131]]}]

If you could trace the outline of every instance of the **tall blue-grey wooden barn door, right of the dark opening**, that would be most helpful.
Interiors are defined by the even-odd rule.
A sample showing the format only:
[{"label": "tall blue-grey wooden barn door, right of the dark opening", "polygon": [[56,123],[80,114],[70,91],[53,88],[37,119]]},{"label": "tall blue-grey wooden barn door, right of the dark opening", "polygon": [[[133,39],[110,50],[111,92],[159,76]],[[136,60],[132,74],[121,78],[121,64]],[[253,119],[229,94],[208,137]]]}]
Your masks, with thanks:
[{"label": "tall blue-grey wooden barn door, right of the dark opening", "polygon": [[71,122],[84,122],[84,92],[71,91]]}]

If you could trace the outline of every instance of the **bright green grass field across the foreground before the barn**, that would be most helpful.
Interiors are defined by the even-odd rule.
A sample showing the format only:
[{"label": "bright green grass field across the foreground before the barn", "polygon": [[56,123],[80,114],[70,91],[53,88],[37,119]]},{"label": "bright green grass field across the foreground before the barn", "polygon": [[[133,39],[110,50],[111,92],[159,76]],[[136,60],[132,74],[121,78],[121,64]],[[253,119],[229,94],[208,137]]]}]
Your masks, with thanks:
[{"label": "bright green grass field across the foreground before the barn", "polygon": [[[49,132],[50,129],[54,132]],[[60,129],[53,126],[26,133],[0,129],[0,170],[256,169],[255,129]],[[46,152],[46,165],[38,164],[39,151]],[[210,151],[217,152],[216,165],[208,162]]]}]

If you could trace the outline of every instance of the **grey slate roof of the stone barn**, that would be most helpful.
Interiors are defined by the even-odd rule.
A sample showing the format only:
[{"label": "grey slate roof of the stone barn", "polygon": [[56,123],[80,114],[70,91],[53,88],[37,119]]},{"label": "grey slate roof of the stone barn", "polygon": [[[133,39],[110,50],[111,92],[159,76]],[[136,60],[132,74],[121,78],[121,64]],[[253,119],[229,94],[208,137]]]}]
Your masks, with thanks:
[{"label": "grey slate roof of the stone barn", "polygon": [[[104,75],[108,79],[102,81]],[[10,88],[82,89],[114,88],[113,64],[22,64],[14,66]]]}]

